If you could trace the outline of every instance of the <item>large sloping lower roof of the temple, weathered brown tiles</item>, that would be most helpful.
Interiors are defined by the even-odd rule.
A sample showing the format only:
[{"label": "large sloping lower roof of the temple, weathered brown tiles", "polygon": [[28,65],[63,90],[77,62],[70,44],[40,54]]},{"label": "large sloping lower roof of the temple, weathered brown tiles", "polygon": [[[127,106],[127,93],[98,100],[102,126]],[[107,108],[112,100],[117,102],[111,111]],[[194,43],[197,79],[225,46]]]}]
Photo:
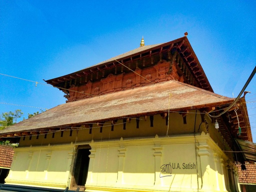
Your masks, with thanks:
[{"label": "large sloping lower roof of the temple, weathered brown tiles", "polygon": [[[170,101],[170,104],[169,104]],[[58,105],[0,132],[25,131],[163,110],[190,110],[232,103],[233,99],[175,80]]]}]

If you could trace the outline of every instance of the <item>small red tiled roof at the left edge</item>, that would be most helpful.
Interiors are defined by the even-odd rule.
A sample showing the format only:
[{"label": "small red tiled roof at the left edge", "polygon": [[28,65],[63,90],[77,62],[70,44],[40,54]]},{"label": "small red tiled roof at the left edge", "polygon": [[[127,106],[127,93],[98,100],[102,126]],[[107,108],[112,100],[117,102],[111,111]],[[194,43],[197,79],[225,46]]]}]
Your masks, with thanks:
[{"label": "small red tiled roof at the left edge", "polygon": [[0,145],[0,167],[10,168],[13,159],[13,148],[6,145]]}]

